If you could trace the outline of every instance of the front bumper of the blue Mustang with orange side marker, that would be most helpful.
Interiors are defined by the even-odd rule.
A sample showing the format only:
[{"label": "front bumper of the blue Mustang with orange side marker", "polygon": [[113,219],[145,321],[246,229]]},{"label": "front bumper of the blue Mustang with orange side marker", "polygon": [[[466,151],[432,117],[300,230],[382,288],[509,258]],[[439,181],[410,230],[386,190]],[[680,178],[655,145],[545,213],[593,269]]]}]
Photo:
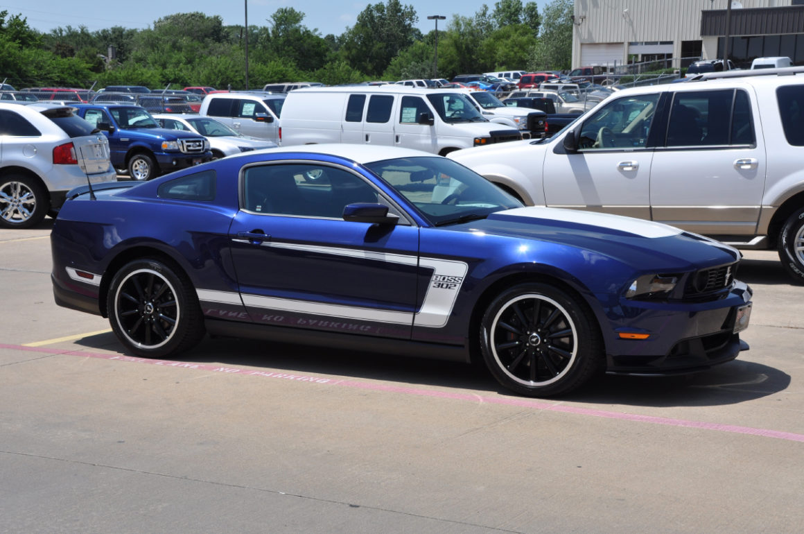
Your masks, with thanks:
[{"label": "front bumper of the blue Mustang with orange side marker", "polygon": [[[670,376],[704,371],[735,359],[748,343],[735,333],[737,310],[751,303],[748,285],[736,281],[731,293],[714,302],[657,306],[629,302],[626,314],[614,328],[642,331],[648,339],[609,339],[606,372],[617,375]],[[638,318],[638,320],[634,320]],[[630,324],[626,324],[630,323]],[[638,328],[635,326],[638,325]]]}]

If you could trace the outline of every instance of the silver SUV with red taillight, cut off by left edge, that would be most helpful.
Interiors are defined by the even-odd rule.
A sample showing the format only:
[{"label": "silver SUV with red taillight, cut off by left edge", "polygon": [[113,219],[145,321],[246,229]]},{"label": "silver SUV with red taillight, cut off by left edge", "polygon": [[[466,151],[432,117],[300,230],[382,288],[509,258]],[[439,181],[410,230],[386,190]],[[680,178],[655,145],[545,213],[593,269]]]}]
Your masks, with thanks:
[{"label": "silver SUV with red taillight, cut off by left edge", "polygon": [[0,103],[0,136],[0,228],[29,228],[73,187],[117,179],[109,142],[69,106]]}]

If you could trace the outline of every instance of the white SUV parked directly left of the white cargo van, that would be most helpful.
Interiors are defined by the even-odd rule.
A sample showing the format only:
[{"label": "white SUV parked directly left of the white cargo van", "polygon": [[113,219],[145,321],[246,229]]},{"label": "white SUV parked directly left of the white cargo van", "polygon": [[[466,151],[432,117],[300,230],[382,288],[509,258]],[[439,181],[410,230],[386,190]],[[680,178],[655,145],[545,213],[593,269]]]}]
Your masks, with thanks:
[{"label": "white SUV parked directly left of the white cargo van", "polygon": [[279,117],[285,95],[270,92],[212,92],[203,98],[199,115],[214,117],[252,138],[279,144]]}]

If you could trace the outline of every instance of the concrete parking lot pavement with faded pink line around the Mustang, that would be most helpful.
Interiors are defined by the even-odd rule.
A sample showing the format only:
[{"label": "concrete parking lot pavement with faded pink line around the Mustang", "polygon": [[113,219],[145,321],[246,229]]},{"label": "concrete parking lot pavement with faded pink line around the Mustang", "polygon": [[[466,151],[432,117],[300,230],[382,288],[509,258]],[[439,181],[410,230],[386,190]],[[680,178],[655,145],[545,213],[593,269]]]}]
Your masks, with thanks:
[{"label": "concrete parking lot pavement with faded pink line around the Mustang", "polygon": [[804,286],[745,251],[751,346],[513,396],[468,365],[236,339],[126,355],[0,230],[3,532],[800,532]]}]

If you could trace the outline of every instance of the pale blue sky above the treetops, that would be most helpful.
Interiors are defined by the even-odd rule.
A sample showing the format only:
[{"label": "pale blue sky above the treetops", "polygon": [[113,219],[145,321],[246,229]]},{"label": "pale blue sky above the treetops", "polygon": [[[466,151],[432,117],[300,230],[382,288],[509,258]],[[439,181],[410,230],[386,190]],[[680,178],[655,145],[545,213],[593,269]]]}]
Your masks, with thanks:
[{"label": "pale blue sky above the treetops", "polygon": [[[413,6],[419,22],[416,25],[422,33],[433,30],[435,23],[428,20],[428,15],[441,14],[446,20],[439,21],[440,28],[446,27],[453,14],[473,16],[483,4],[494,10],[496,0],[440,0],[425,2],[423,0],[400,0],[404,6]],[[529,0],[523,0],[523,4]],[[534,0],[539,6],[539,13],[549,0]],[[113,26],[146,29],[154,27],[154,21],[169,14],[200,11],[209,16],[219,15],[224,26],[243,24],[245,2],[248,2],[248,25],[268,26],[266,21],[281,7],[293,7],[305,14],[301,23],[310,30],[318,29],[324,36],[341,35],[347,27],[354,26],[357,15],[369,4],[386,3],[386,0],[371,2],[326,2],[324,0],[244,0],[230,2],[227,0],[194,0],[194,2],[156,2],[154,0],[113,0],[111,2],[84,2],[84,0],[11,0],[0,4],[0,11],[6,10],[10,15],[20,14],[27,18],[28,26],[47,33],[57,27],[85,26],[88,31],[102,30]],[[437,7],[436,7],[437,6]]]}]

